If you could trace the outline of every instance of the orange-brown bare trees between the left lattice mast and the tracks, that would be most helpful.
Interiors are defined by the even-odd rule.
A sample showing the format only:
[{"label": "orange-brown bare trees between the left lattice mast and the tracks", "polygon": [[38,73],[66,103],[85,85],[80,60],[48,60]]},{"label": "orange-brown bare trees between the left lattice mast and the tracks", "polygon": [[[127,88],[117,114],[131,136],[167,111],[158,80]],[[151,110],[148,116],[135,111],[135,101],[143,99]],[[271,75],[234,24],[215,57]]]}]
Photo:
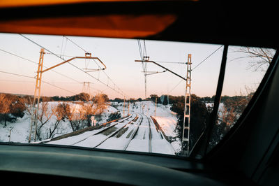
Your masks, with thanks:
[{"label": "orange-brown bare trees between the left lattice mast and the tracks", "polygon": [[[59,131],[61,121],[67,121],[73,131],[90,127],[92,117],[100,120],[102,113],[107,108],[107,96],[104,94],[96,94],[88,101],[77,101],[74,106],[71,102],[62,101],[52,106],[49,101],[43,100],[40,104],[38,112],[38,127],[36,130],[36,138],[40,141],[46,138],[52,138],[56,134],[62,134]],[[50,119],[54,118],[54,122],[50,124]]]}]

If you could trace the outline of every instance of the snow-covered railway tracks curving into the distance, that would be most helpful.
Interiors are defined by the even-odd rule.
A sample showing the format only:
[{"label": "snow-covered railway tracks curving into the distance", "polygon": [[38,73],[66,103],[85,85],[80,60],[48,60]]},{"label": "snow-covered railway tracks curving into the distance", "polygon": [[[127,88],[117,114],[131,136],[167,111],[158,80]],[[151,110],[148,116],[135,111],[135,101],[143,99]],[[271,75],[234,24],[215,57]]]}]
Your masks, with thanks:
[{"label": "snow-covered railway tracks curving into the distance", "polygon": [[53,141],[52,144],[156,153],[164,153],[168,151],[165,148],[172,146],[151,118],[142,113],[133,113],[108,127]]}]

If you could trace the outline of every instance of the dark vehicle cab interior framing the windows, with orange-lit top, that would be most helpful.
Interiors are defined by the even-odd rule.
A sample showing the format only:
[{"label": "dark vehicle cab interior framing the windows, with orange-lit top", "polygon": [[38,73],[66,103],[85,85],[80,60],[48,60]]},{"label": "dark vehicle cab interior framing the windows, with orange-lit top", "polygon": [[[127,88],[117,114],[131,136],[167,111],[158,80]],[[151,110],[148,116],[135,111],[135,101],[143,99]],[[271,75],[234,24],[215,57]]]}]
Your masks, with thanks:
[{"label": "dark vehicle cab interior framing the windows, with orange-lit top", "polygon": [[[188,157],[42,143],[0,143],[6,183],[278,185],[278,13],[267,1],[0,1],[0,32],[224,45],[215,106]],[[239,120],[208,150],[229,45],[276,54]],[[197,158],[197,155],[203,155]]]}]

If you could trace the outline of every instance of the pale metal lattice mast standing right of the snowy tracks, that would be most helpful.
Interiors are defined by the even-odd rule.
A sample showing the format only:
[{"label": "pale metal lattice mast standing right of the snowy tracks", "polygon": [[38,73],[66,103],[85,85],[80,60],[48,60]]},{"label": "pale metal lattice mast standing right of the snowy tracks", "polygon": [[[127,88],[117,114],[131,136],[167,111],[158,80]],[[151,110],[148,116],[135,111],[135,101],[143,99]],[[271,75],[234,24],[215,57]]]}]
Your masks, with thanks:
[{"label": "pale metal lattice mast standing right of the snowy tracks", "polygon": [[186,150],[189,152],[190,143],[190,105],[191,105],[191,55],[188,55],[187,73],[186,73],[186,93],[185,93],[185,106],[184,106],[184,119],[182,141],[187,142]]}]

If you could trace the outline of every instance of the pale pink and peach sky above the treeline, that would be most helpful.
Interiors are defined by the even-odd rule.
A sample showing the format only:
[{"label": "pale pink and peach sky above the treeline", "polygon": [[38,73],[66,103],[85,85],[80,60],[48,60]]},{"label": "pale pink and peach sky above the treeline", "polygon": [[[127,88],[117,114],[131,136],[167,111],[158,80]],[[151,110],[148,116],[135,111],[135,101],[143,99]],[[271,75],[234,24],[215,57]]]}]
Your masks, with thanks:
[{"label": "pale pink and peach sky above the treeline", "polygon": [[[52,85],[43,83],[41,95],[70,96],[78,94],[83,90],[83,83],[90,82],[91,94],[103,92],[110,99],[115,97],[123,98],[123,95],[105,86],[110,85],[114,87],[115,83],[116,87],[119,87],[128,98],[144,98],[142,64],[135,62],[136,59],[140,59],[137,40],[67,36],[81,47],[79,48],[74,43],[63,38],[63,36],[28,34],[24,36],[47,50],[54,52],[56,55],[64,57],[64,59],[84,56],[84,51],[81,49],[83,48],[91,52],[93,57],[98,57],[107,66],[105,73],[110,79],[107,78],[103,71],[90,72],[89,74],[95,77],[92,78],[73,66],[75,65],[80,69],[96,69],[98,67],[93,60],[75,59],[71,62],[73,65],[63,64],[56,67],[54,71],[58,73],[54,71],[43,73],[43,80]],[[31,95],[34,92],[35,79],[8,74],[16,73],[24,76],[36,76],[40,46],[27,40],[27,38],[22,37],[20,34],[0,34],[0,92]],[[186,62],[187,55],[191,54],[192,69],[211,55],[212,52],[220,48],[220,45],[199,43],[166,41],[145,41],[145,43],[147,55],[154,62]],[[264,72],[253,72],[248,68],[251,59],[236,59],[237,57],[243,57],[243,54],[235,52],[236,50],[237,47],[229,47],[223,95],[232,96],[239,95],[241,92],[246,93],[246,87],[255,90],[264,76]],[[191,87],[193,94],[197,94],[197,96],[213,96],[215,94],[222,52],[223,47],[197,66],[196,69],[193,69]],[[45,54],[43,64],[50,67],[60,62],[63,62],[63,60],[59,57]],[[160,64],[178,73],[180,76],[186,76],[186,64]],[[163,69],[155,64],[147,64],[147,71],[163,71]],[[96,79],[101,80],[105,85],[99,83]],[[169,72],[147,76],[147,95],[149,96],[150,94],[158,94],[159,96],[161,94],[183,95],[185,94],[185,82]]]}]

